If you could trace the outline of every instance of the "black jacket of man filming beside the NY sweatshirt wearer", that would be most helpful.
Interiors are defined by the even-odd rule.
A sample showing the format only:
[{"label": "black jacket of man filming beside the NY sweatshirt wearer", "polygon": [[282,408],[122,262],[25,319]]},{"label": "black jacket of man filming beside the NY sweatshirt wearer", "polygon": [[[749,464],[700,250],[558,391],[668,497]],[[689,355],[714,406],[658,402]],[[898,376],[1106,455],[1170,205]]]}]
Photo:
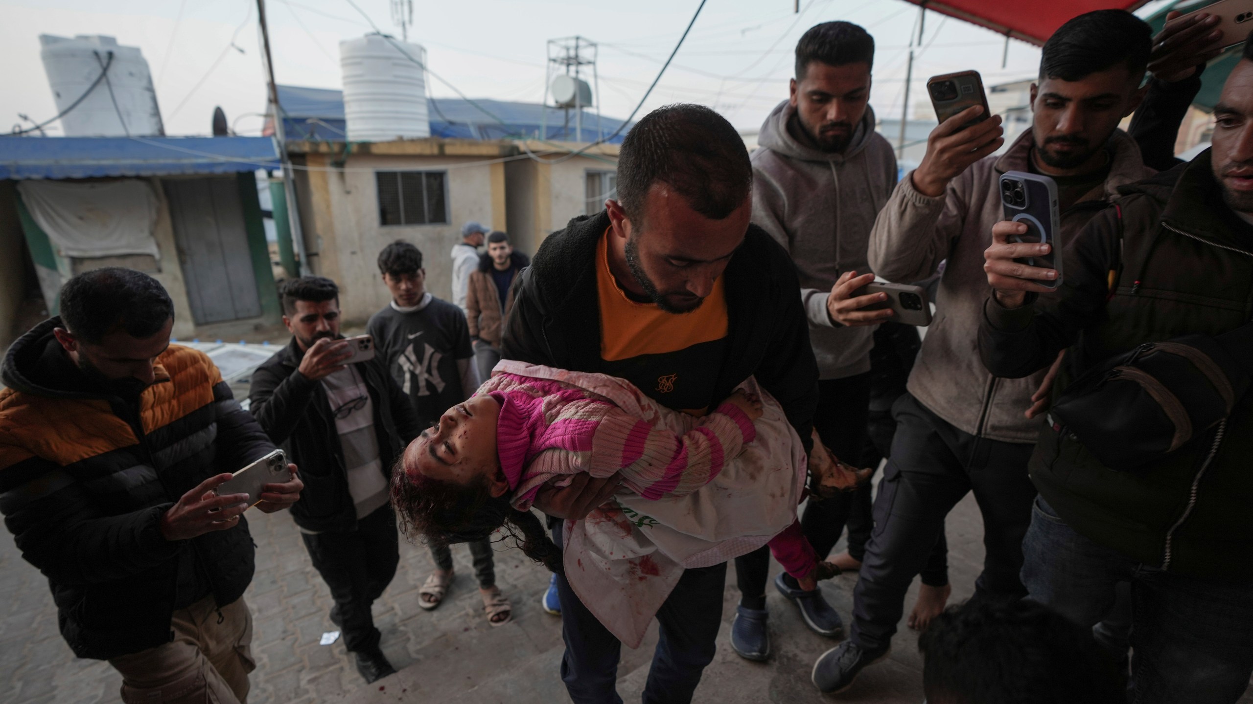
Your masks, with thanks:
[{"label": "black jacket of man filming beside the NY sweatshirt wearer", "polygon": [[[297,371],[304,352],[293,337],[252,373],[249,410],[292,462],[299,467],[304,490],[292,506],[296,525],[312,531],[346,531],[357,525],[348,494],[343,448],[335,427],[326,388]],[[417,413],[378,357],[353,368],[365,380],[375,408],[378,461],[390,481],[392,465],[417,437]]]}]

